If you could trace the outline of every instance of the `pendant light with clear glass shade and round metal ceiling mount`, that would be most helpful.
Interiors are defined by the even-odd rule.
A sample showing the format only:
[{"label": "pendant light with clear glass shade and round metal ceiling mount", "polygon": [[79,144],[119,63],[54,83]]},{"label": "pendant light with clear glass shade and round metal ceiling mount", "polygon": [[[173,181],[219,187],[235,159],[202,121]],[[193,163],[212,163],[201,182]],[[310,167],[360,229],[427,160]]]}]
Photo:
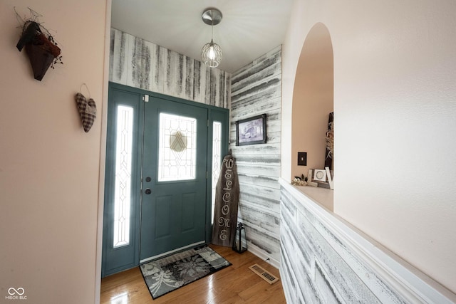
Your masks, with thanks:
[{"label": "pendant light with clear glass shade and round metal ceiling mount", "polygon": [[222,48],[214,43],[213,34],[214,26],[222,21],[222,12],[218,9],[205,9],[202,13],[202,21],[211,26],[211,42],[204,44],[201,50],[201,58],[204,64],[211,68],[216,68],[222,61]]}]

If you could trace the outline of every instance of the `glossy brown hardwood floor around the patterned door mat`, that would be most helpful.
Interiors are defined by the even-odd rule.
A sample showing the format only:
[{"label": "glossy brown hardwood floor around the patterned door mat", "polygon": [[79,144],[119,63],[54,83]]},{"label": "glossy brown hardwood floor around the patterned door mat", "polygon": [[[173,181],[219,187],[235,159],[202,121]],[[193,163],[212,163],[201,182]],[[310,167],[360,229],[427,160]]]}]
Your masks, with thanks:
[{"label": "glossy brown hardwood floor around the patterned door mat", "polygon": [[281,281],[272,285],[249,269],[254,263],[274,276],[279,271],[248,251],[237,253],[232,248],[210,245],[232,263],[211,276],[199,279],[171,293],[152,300],[138,267],[101,280],[102,304],[145,303],[286,303]]}]

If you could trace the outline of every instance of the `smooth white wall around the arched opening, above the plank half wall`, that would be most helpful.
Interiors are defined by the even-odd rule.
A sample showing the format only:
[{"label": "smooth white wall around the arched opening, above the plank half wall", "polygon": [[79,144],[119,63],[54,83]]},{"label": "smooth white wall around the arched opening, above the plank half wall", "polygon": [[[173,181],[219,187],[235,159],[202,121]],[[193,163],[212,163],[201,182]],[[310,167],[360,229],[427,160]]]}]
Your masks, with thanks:
[{"label": "smooth white wall around the arched opening, above the plank half wall", "polygon": [[295,1],[283,48],[282,172],[307,33],[331,34],[334,211],[456,292],[456,2]]}]

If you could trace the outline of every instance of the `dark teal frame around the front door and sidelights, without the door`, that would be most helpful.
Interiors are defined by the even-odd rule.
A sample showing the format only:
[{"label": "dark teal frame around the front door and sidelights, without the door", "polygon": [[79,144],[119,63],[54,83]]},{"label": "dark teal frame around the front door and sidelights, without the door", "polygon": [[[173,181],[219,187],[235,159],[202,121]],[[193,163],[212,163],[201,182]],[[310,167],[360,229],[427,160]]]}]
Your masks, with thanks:
[{"label": "dark teal frame around the front door and sidelights, without the door", "polygon": [[[214,105],[207,105],[207,104],[204,104],[204,103],[197,103],[195,101],[191,101],[191,100],[185,100],[185,99],[182,99],[182,98],[177,98],[177,97],[174,97],[174,96],[170,96],[170,95],[165,95],[165,94],[161,94],[161,93],[155,93],[155,92],[151,92],[151,91],[147,91],[147,90],[143,90],[143,89],[139,89],[139,88],[133,88],[133,87],[130,87],[128,85],[120,85],[118,83],[112,83],[112,82],[109,82],[108,83],[108,115],[110,112],[113,112],[112,110],[112,107],[110,107],[110,92],[111,90],[119,90],[119,91],[124,91],[126,93],[130,93],[130,94],[138,94],[138,105],[139,107],[138,108],[142,108],[142,103],[145,102],[144,101],[144,97],[145,95],[148,95],[149,97],[152,97],[152,98],[161,98],[161,99],[165,99],[165,100],[170,100],[171,102],[175,102],[175,103],[182,103],[182,104],[185,104],[185,105],[192,105],[192,106],[195,106],[195,107],[198,107],[198,108],[204,108],[204,109],[207,109],[207,159],[206,159],[206,170],[207,170],[207,179],[206,179],[206,225],[205,225],[205,229],[206,229],[206,233],[205,233],[205,242],[206,243],[209,243],[210,240],[211,240],[211,236],[212,236],[212,224],[211,224],[211,214],[212,214],[212,204],[211,204],[211,201],[212,201],[212,136],[213,136],[213,130],[212,130],[212,123],[214,121],[220,121],[222,122],[222,147],[221,147],[221,152],[222,152],[222,157],[221,157],[221,160],[223,159],[223,156],[224,154],[227,154],[228,152],[228,147],[229,147],[229,129],[230,129],[230,125],[229,125],[229,109],[226,109],[226,108],[218,108],[218,107],[215,107]],[[112,115],[112,114],[111,114]],[[141,116],[141,115],[139,115]],[[140,117],[140,123],[141,123],[141,126],[144,124],[144,121],[143,121],[143,117]],[[109,120],[107,120],[109,122]],[[112,125],[112,124],[111,124]],[[108,128],[109,127],[113,127],[107,123],[107,130],[106,130],[106,147],[105,147],[105,164],[108,163],[108,159],[110,159],[110,157],[112,157],[112,155],[110,154],[110,151],[108,151],[108,147],[109,147],[109,142],[110,140],[112,140],[111,138],[108,137]],[[138,138],[141,139],[140,143],[139,143],[139,147],[138,147],[138,150],[139,152],[142,154],[142,132],[143,130],[138,130],[138,132],[140,132],[140,135],[138,135]],[[142,157],[142,155],[141,155]],[[141,157],[138,157],[138,162],[142,162],[142,159]],[[220,162],[221,164],[221,162]],[[142,165],[142,164],[141,164]],[[105,178],[109,176],[109,174],[112,174],[112,168],[109,168],[108,166],[105,167]],[[142,172],[140,173],[142,175]],[[140,178],[142,178],[142,176],[140,176]],[[141,181],[139,181],[140,183],[140,187],[141,187]],[[109,276],[110,274],[113,274],[113,273],[117,273],[117,272],[120,272],[120,271],[124,271],[124,270],[127,270],[129,268],[133,268],[133,267],[136,267],[136,266],[139,266],[140,265],[140,259],[139,259],[139,253],[140,253],[140,206],[142,204],[142,201],[141,201],[141,193],[138,192],[138,196],[139,196],[139,199],[138,199],[138,205],[139,206],[134,206],[133,207],[133,211],[134,214],[132,215],[132,227],[134,226],[134,230],[135,230],[135,235],[133,235],[133,238],[131,238],[133,241],[135,241],[135,243],[132,245],[132,246],[135,246],[135,261],[136,263],[130,263],[128,264],[127,266],[123,266],[123,267],[119,267],[119,268],[115,268],[115,269],[106,269],[106,265],[105,265],[105,254],[106,254],[106,251],[108,250],[108,246],[109,244],[105,243],[105,226],[106,226],[106,223],[104,221],[104,216],[105,216],[105,213],[107,211],[109,211],[109,208],[107,208],[107,204],[108,204],[108,199],[106,197],[106,189],[107,189],[107,184],[105,182],[105,187],[103,189],[103,194],[104,194],[104,201],[103,201],[103,206],[104,206],[104,211],[103,211],[103,231],[102,231],[102,235],[103,235],[103,244],[102,244],[102,261],[101,261],[101,277],[105,277],[105,276]],[[139,188],[140,188],[139,187]],[[140,189],[140,191],[142,191],[142,189]],[[138,227],[137,227],[138,226]]]}]

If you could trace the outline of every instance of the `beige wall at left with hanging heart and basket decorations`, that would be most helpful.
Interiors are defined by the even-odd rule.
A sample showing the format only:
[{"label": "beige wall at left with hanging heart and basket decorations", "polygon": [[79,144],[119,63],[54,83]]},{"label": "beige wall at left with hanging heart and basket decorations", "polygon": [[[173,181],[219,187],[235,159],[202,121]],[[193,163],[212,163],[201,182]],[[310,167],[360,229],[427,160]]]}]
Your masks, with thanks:
[{"label": "beige wall at left with hanging heart and basket decorations", "polygon": [[[24,303],[96,302],[108,2],[0,1],[0,303],[19,295]],[[16,48],[14,7],[23,18],[27,7],[41,14],[61,47],[63,65],[41,81]],[[76,108],[79,90],[97,105],[88,133]]]}]

